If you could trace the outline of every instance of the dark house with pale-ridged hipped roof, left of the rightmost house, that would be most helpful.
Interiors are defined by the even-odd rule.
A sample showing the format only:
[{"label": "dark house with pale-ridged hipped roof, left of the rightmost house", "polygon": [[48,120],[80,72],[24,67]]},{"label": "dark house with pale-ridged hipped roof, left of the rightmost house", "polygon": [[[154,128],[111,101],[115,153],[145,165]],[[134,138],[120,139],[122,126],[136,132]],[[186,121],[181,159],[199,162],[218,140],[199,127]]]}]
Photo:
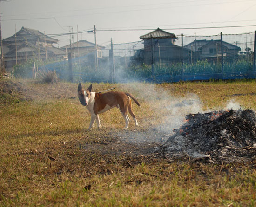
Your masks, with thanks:
[{"label": "dark house with pale-ridged hipped roof, left of the rightmost house", "polygon": [[[157,28],[153,32],[142,35],[140,39],[144,40],[144,49],[138,50],[134,59],[146,64],[152,63],[152,56],[154,63],[182,62],[182,47],[175,45],[175,41],[178,39],[175,34]],[[188,59],[189,49],[183,48],[183,57]]]}]

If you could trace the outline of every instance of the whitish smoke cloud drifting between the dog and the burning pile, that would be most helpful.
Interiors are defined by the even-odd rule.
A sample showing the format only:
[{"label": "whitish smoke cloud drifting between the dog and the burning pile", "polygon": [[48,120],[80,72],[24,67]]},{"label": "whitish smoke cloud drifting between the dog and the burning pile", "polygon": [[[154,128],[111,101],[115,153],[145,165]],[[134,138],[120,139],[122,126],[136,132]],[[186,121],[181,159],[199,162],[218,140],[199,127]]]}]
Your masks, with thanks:
[{"label": "whitish smoke cloud drifting between the dog and the burning pile", "polygon": [[[129,132],[130,138],[127,134],[122,134],[120,137],[123,137],[125,141],[129,140],[137,144],[141,142],[163,143],[174,133],[173,129],[180,128],[187,114],[202,112],[202,103],[195,94],[189,93],[184,97],[175,97],[171,95],[171,91],[163,89],[162,86],[158,87],[157,84],[148,83],[128,84],[127,88],[122,88],[122,90],[131,92],[142,103],[142,110],[145,110],[148,115],[141,118],[135,113],[138,116],[139,125],[141,125],[140,119],[142,123],[146,123],[139,127],[147,129],[142,129],[141,132],[137,130]],[[133,124],[132,120],[130,124]]]}]

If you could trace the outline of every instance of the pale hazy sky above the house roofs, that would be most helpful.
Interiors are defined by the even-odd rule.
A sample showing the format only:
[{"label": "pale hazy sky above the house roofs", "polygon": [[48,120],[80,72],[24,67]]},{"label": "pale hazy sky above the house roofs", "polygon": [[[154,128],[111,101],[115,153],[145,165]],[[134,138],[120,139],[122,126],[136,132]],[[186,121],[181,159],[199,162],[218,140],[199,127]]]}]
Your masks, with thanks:
[{"label": "pale hazy sky above the house roofs", "polygon": [[[256,0],[5,0],[0,2],[2,36],[22,26],[48,35],[96,29],[152,29],[145,31],[97,31],[97,44],[139,41],[143,34],[160,27],[179,35],[215,35],[253,32],[256,26],[216,29],[179,29],[256,25]],[[170,30],[169,30],[170,29]],[[59,45],[70,36],[54,37]],[[74,41],[76,41],[76,34]],[[94,42],[92,33],[78,39]],[[58,46],[58,45],[55,45]]]}]

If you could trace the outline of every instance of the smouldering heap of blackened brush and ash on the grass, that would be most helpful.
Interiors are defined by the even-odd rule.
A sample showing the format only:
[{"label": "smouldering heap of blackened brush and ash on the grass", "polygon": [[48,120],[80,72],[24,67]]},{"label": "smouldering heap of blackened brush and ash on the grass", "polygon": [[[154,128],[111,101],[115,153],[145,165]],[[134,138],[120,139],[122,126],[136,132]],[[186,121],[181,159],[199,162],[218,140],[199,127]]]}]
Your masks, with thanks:
[{"label": "smouldering heap of blackened brush and ash on the grass", "polygon": [[253,110],[189,114],[180,129],[157,149],[162,155],[203,158],[209,162],[256,159],[256,115]]}]

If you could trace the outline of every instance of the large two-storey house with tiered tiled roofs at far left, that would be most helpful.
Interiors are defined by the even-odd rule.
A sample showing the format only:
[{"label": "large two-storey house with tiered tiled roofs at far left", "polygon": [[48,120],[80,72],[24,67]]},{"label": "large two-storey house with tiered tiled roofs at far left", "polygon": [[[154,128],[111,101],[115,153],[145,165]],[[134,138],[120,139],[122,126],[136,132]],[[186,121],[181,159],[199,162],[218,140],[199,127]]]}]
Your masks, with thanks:
[{"label": "large two-storey house with tiered tiled roofs at far left", "polygon": [[3,39],[4,64],[11,71],[16,63],[29,59],[64,58],[65,51],[54,47],[57,39],[48,37],[38,30],[22,27],[13,36]]}]

